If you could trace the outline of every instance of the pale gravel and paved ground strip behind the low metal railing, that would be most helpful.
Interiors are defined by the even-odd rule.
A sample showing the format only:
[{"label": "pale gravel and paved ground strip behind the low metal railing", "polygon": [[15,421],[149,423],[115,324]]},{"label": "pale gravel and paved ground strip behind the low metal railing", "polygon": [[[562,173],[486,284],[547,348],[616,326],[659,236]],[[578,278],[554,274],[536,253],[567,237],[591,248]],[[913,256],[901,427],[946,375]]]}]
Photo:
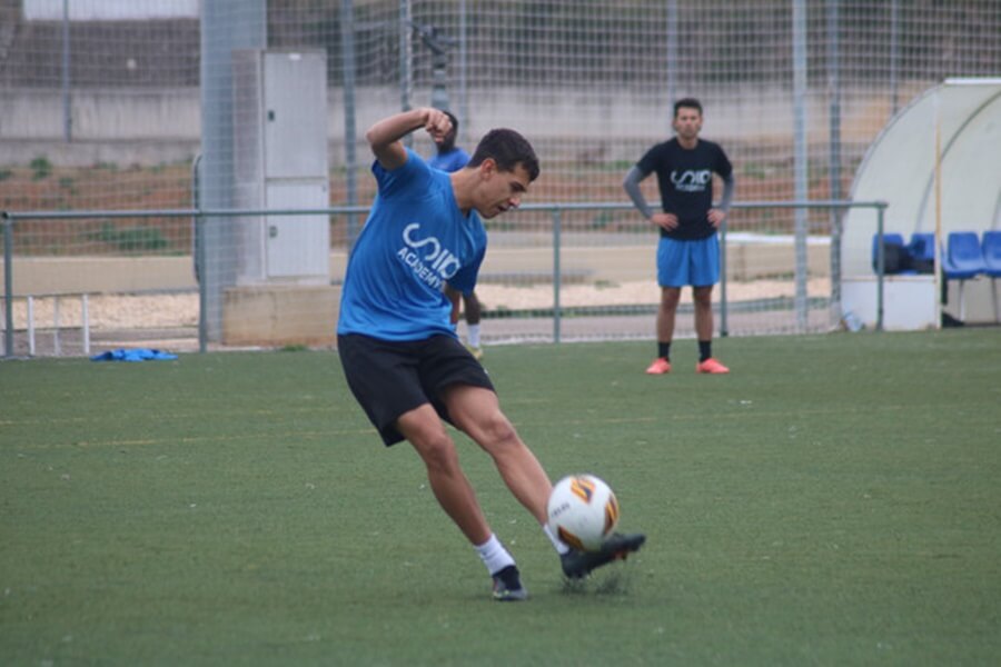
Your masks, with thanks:
[{"label": "pale gravel and paved ground strip behind the low metal railing", "polygon": [[[727,285],[727,298],[731,302],[776,297],[792,298],[794,292],[795,286],[787,280],[756,280],[749,283],[731,282]],[[812,297],[829,296],[830,280],[826,278],[811,280],[807,285],[807,293]],[[477,288],[477,295],[487,311],[547,309],[553,306],[552,285],[513,287],[484,283]],[[718,296],[717,287],[715,297],[718,299]],[[565,285],[559,298],[564,308],[655,306],[660,298],[660,290],[648,280],[616,285]],[[690,303],[691,290],[685,289],[682,293],[682,308]],[[76,295],[60,297],[58,307],[57,299],[52,297],[33,299],[33,354],[36,356],[52,354],[81,356],[85,354],[82,306],[82,298]],[[786,326],[781,321],[784,316],[776,319],[774,313],[757,313],[756,317],[753,317],[754,315],[734,316],[731,331],[764,334],[783,330]],[[28,356],[32,352],[32,344],[27,330],[27,300],[14,301],[13,318],[14,354]],[[156,347],[174,351],[198,349],[198,295],[195,292],[90,295],[87,298],[87,319],[90,329],[90,354],[117,347]],[[691,322],[687,321],[690,319],[685,316],[678,318],[677,335],[680,338],[692,335]],[[811,329],[824,329],[829,326],[829,319],[826,312],[811,313],[810,327]],[[653,315],[567,318],[562,322],[562,338],[566,340],[653,338]],[[463,331],[462,328],[460,331]],[[487,319],[484,322],[486,344],[551,340],[553,334],[552,318]],[[215,349],[215,346],[212,347]]]}]

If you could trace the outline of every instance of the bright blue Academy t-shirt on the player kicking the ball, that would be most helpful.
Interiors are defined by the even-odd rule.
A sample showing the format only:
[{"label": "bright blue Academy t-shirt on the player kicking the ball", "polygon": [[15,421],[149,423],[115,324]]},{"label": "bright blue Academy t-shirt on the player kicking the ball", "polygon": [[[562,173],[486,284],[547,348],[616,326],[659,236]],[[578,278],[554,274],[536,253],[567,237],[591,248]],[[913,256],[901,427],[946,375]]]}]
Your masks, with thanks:
[{"label": "bright blue Academy t-shirt on the player kicking the ball", "polygon": [[469,293],[486,253],[476,211],[464,216],[452,180],[413,150],[406,163],[371,171],[378,195],[348,260],[337,334],[383,340],[455,336],[445,281]]}]

